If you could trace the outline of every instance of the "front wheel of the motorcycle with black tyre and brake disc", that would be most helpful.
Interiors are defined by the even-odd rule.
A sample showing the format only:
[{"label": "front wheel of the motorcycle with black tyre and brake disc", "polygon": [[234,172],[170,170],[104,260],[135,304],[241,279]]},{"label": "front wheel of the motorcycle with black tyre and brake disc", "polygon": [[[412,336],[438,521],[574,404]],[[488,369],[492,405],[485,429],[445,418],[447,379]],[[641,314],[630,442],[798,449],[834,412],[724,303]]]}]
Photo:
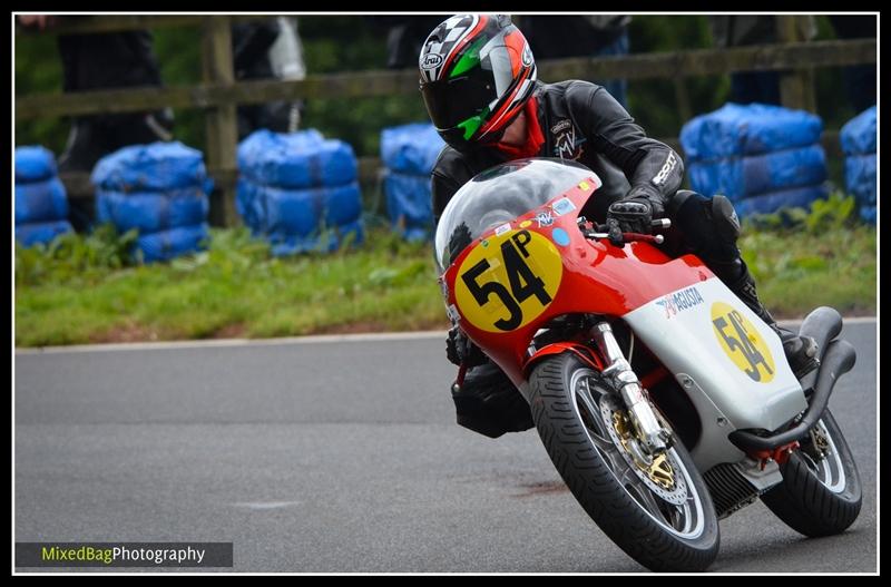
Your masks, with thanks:
[{"label": "front wheel of the motorcycle with black tyre and brake disc", "polygon": [[714,561],[717,516],[681,442],[643,462],[616,392],[571,353],[542,360],[529,384],[548,456],[619,548],[652,570],[704,570]]}]

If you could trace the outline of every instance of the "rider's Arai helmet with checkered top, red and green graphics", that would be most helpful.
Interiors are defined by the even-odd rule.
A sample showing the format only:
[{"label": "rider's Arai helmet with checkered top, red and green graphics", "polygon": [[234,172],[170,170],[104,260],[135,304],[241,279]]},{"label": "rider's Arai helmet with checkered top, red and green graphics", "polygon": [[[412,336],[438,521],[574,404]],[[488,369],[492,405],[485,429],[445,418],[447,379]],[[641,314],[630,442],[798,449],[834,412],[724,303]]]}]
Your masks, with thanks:
[{"label": "rider's Arai helmet with checkered top, red and green graphics", "polygon": [[424,41],[421,94],[440,136],[463,150],[498,140],[532,95],[536,62],[507,14],[457,14]]}]

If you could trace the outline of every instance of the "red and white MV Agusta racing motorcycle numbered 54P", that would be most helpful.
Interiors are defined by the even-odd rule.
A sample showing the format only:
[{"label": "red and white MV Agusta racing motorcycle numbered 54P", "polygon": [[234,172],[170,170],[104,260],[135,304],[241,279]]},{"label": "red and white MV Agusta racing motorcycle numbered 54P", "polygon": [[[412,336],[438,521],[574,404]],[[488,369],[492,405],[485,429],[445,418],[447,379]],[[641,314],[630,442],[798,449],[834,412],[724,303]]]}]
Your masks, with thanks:
[{"label": "red and white MV Agusta racing motorcycle numbered 54P", "polygon": [[510,378],[569,490],[645,567],[707,568],[718,520],[758,498],[805,536],[842,532],[861,485],[826,407],[855,361],[839,313],[803,321],[820,366],[797,380],[779,335],[698,257],[667,256],[662,234],[617,246],[580,216],[600,185],[548,158],[467,183],[434,243],[453,326]]}]

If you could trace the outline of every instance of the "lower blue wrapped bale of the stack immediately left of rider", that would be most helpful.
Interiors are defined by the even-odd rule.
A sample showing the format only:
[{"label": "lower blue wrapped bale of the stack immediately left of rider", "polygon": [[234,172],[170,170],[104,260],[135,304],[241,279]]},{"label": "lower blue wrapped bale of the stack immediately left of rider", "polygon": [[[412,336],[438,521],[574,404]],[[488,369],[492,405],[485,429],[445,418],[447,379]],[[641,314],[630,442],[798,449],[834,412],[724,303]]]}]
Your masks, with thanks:
[{"label": "lower blue wrapped bale of the stack immediately left of rider", "polygon": [[392,226],[409,241],[429,238],[433,229],[430,176],[389,172],[383,182]]}]

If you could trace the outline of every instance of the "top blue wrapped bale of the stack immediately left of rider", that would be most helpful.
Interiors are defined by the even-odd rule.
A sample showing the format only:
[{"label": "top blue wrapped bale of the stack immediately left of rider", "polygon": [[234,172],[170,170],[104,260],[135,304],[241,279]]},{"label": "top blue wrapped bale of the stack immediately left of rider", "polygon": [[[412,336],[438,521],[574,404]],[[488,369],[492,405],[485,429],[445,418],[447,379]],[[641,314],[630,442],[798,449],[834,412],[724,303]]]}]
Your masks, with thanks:
[{"label": "top blue wrapped bale of the stack immediately left of rider", "polygon": [[414,123],[381,131],[381,159],[390,170],[430,175],[446,143],[433,125]]}]

